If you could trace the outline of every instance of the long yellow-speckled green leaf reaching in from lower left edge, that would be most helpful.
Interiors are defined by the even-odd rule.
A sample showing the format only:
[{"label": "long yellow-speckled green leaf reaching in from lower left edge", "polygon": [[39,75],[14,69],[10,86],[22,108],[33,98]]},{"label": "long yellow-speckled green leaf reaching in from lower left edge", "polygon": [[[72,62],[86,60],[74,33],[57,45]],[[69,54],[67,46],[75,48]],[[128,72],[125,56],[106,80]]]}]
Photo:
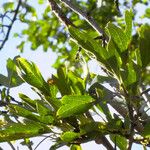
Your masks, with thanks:
[{"label": "long yellow-speckled green leaf reaching in from lower left edge", "polygon": [[38,122],[12,123],[0,129],[0,142],[38,136],[50,132],[50,129]]}]

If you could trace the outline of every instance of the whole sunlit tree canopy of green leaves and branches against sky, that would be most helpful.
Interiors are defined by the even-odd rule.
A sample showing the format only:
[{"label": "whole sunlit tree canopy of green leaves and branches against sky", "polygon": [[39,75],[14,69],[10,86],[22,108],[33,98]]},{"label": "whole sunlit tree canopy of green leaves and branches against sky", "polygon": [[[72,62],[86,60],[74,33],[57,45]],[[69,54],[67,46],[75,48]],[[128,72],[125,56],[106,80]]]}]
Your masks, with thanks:
[{"label": "whole sunlit tree canopy of green leaves and branches against sky", "polygon": [[[46,135],[55,143],[50,150],[64,145],[81,150],[90,141],[108,150],[130,150],[133,143],[150,147],[148,0],[38,0],[35,5],[14,0],[1,5],[1,51],[14,34],[20,53],[28,44],[34,51],[55,52],[57,59],[56,74],[47,80],[34,62],[20,56],[7,60],[8,74],[0,74],[0,142],[14,149],[11,141],[23,139],[32,150],[30,138]],[[17,24],[22,27],[11,33]],[[93,59],[101,72],[89,71]],[[11,89],[25,83],[36,99],[11,96]]]}]

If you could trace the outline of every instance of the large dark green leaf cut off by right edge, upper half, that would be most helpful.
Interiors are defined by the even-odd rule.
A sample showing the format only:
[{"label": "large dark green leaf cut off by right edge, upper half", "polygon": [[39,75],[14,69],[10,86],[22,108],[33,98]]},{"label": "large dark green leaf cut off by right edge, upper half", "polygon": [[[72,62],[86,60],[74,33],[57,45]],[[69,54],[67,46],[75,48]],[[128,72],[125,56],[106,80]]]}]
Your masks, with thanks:
[{"label": "large dark green leaf cut off by right edge, upper half", "polygon": [[150,63],[150,26],[142,25],[139,31],[139,49],[142,66],[145,68]]}]

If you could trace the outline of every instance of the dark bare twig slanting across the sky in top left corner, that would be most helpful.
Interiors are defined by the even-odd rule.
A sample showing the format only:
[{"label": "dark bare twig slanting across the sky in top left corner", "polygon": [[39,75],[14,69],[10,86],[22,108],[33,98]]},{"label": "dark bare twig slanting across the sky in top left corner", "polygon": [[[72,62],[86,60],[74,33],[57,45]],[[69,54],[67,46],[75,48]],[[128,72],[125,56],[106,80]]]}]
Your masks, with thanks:
[{"label": "dark bare twig slanting across the sky in top left corner", "polygon": [[14,16],[13,16],[13,18],[12,18],[12,21],[11,21],[11,23],[10,23],[10,25],[9,25],[9,28],[8,28],[8,30],[7,30],[6,37],[5,37],[5,39],[3,40],[3,42],[2,42],[2,44],[1,44],[1,46],[0,46],[0,50],[4,47],[6,41],[8,40],[8,37],[9,37],[9,35],[10,35],[10,31],[11,31],[11,29],[12,29],[12,26],[13,26],[13,24],[14,24],[16,18],[17,18],[17,14],[18,14],[18,12],[19,12],[20,5],[21,5],[21,0],[19,0],[18,5],[17,5],[17,7],[16,7],[16,9],[15,9],[15,11],[14,11],[15,14],[14,14]]}]

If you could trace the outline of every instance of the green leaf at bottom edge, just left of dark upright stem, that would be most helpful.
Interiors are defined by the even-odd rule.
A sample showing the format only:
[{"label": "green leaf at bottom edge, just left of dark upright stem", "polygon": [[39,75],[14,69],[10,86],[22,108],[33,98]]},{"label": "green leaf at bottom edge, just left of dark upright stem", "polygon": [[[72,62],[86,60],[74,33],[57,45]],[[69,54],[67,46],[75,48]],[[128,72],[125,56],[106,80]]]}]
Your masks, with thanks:
[{"label": "green leaf at bottom edge, just left of dark upright stem", "polygon": [[[119,149],[126,150],[127,149],[127,139],[121,135],[110,135],[110,139],[116,144]],[[116,142],[116,143],[115,143]]]}]

